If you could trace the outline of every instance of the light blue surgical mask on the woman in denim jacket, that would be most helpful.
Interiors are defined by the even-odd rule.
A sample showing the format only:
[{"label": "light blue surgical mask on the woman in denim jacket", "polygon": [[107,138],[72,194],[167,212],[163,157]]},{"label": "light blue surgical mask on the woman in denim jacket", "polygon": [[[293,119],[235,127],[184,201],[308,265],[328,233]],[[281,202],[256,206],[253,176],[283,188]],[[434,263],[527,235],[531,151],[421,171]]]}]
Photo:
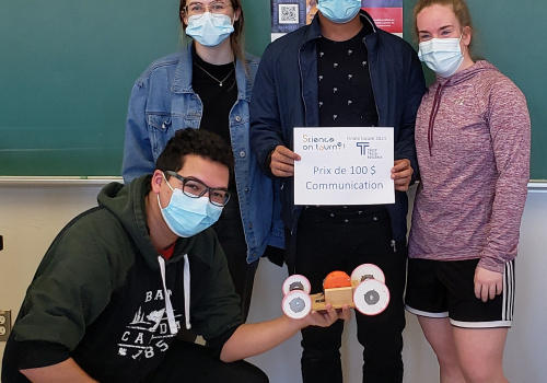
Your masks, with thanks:
[{"label": "light blue surgical mask on the woman in denim jacket", "polygon": [[186,34],[206,47],[216,47],[234,32],[232,19],[228,14],[205,12],[188,18]]}]

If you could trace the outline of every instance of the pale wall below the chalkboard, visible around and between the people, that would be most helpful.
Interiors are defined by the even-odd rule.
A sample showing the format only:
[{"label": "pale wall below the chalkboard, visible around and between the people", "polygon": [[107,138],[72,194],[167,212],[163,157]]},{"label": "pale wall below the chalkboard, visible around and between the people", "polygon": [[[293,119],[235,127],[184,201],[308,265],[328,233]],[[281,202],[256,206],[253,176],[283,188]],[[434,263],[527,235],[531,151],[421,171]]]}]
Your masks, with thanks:
[{"label": "pale wall below the chalkboard, visible around and between the people", "polygon": [[[0,179],[0,310],[16,315],[26,287],[55,235],[74,216],[96,204],[100,186],[7,186]],[[56,185],[56,184],[54,184]],[[505,373],[512,383],[545,382],[547,335],[547,188],[531,188],[521,231],[516,263],[516,309],[505,350]],[[249,322],[281,315],[284,268],[261,260],[255,280]],[[405,383],[438,381],[434,355],[412,315],[404,333]],[[4,343],[0,343],[0,357]],[[345,382],[361,382],[361,349],[356,323],[347,324],[342,346]],[[283,345],[251,358],[270,376],[271,383],[300,382],[300,335]]]}]

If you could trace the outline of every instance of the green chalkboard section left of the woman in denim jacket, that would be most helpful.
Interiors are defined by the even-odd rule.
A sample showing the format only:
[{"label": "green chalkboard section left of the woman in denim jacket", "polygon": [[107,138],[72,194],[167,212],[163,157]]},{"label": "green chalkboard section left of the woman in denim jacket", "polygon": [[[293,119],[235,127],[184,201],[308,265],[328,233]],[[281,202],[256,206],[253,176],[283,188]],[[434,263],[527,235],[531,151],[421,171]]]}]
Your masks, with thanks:
[{"label": "green chalkboard section left of the woman in denim jacket", "polygon": [[176,0],[1,0],[0,175],[119,175],[132,83],[178,36]]}]

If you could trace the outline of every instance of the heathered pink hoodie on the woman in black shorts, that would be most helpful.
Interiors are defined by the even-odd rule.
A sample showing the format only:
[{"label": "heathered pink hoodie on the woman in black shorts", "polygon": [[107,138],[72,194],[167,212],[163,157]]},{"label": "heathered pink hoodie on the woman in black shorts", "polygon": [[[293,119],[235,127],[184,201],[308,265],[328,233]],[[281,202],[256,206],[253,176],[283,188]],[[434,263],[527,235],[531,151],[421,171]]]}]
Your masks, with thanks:
[{"label": "heathered pink hoodie on the woman in black shorts", "polygon": [[526,100],[491,63],[438,81],[416,119],[418,186],[409,256],[480,258],[502,272],[516,256],[529,177]]}]

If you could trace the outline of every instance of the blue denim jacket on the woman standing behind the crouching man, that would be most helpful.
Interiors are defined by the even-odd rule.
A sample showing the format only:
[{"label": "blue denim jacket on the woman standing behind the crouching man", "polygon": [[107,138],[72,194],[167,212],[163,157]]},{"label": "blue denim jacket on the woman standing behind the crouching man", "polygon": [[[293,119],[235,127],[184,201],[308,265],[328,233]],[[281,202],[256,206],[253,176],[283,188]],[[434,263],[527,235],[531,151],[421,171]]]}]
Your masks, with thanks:
[{"label": "blue denim jacket on the woman standing behind the crouching man", "polygon": [[[259,59],[237,60],[237,101],[230,112],[230,136],[235,159],[235,183],[247,243],[247,262],[258,259],[267,245],[283,247],[280,202],[274,182],[256,166],[249,148],[253,82]],[[199,128],[203,106],[191,88],[191,45],[154,61],[136,81],[127,113],[124,165],[126,183],[152,173],[155,161],[177,129]],[[277,193],[276,193],[277,196]]]}]

